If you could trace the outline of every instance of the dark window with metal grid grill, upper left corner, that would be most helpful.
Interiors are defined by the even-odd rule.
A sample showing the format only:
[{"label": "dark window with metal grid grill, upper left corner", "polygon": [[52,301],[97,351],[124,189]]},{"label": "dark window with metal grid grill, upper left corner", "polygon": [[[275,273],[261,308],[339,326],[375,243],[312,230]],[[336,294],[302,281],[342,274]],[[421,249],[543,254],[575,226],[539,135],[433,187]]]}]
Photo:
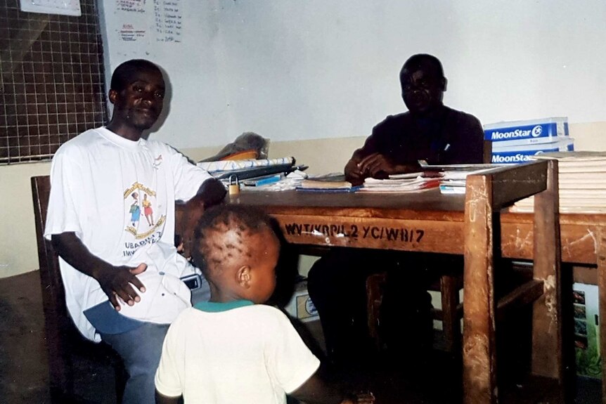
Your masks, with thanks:
[{"label": "dark window with metal grid grill, upper left corner", "polygon": [[59,146],[105,123],[103,48],[95,0],[82,15],[0,4],[0,164],[51,159]]}]

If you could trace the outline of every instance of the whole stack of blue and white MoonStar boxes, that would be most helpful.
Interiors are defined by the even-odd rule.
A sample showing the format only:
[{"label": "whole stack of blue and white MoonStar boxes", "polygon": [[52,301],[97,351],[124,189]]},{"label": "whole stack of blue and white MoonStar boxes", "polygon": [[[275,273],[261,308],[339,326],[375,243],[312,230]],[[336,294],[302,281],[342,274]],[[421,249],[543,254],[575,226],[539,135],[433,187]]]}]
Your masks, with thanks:
[{"label": "whole stack of blue and white MoonStar boxes", "polygon": [[565,117],[484,125],[484,139],[492,142],[491,162],[496,164],[517,164],[543,152],[574,150]]}]

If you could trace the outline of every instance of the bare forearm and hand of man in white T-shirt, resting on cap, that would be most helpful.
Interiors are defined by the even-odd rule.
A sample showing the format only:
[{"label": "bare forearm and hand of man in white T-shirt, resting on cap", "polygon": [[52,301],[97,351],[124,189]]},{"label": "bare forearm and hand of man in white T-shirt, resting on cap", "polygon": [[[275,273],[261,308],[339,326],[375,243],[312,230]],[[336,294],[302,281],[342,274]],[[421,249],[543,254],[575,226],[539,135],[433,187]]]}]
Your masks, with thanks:
[{"label": "bare forearm and hand of man in white T-shirt, resting on cap", "polygon": [[120,297],[129,306],[141,300],[132,285],[141,292],[145,292],[143,283],[135,276],[147,269],[145,263],[139,264],[136,268],[112,266],[98,256],[91,254],[82,240],[72,232],[54,234],[51,240],[53,247],[61,258],[78,271],[99,282],[101,289],[108,295],[116,310],[120,310],[117,297]]}]

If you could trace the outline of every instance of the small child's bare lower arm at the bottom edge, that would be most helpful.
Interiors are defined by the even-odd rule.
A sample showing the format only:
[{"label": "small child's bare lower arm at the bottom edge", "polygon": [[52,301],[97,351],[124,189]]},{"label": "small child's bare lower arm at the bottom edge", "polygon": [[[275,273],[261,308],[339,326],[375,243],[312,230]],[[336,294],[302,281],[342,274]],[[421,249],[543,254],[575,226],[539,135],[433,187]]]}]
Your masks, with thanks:
[{"label": "small child's bare lower arm at the bottom edge", "polygon": [[373,393],[344,392],[324,382],[316,374],[290,395],[309,404],[373,404],[375,402]]}]

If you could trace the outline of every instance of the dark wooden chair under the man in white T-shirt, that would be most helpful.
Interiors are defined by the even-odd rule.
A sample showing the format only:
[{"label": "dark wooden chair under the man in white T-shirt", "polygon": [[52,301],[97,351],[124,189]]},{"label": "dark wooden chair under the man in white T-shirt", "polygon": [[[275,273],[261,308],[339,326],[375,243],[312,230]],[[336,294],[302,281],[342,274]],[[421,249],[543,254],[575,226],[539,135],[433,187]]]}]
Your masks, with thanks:
[{"label": "dark wooden chair under the man in white T-shirt", "polygon": [[[79,401],[74,380],[77,376],[73,359],[86,358],[94,365],[111,365],[115,370],[117,403],[122,401],[127,373],[122,359],[106,344],[95,344],[85,339],[67,313],[65,289],[59,271],[59,261],[49,240],[44,238],[46,210],[49,204],[51,182],[49,176],[32,177],[32,197],[38,242],[44,331],[49,351],[49,373],[53,403]],[[83,386],[82,389],[88,389]]]}]

